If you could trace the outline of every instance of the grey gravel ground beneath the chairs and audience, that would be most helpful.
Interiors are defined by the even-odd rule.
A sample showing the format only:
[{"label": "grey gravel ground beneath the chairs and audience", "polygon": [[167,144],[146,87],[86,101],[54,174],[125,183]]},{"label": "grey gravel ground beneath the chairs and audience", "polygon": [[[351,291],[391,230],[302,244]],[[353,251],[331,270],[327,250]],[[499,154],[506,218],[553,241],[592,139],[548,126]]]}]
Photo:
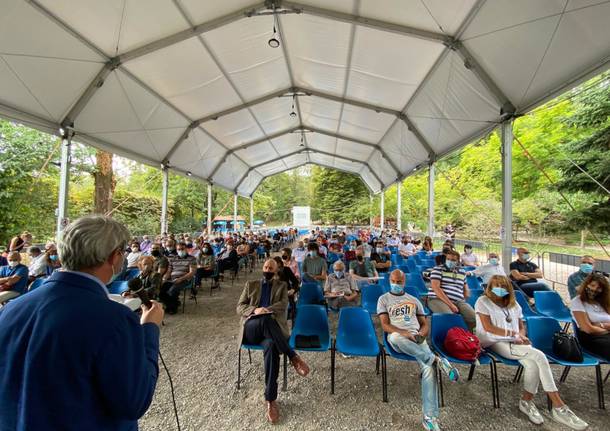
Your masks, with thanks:
[{"label": "grey gravel ground beneath the chairs and audience", "polygon": [[[260,276],[258,271],[249,275]],[[161,353],[170,369],[182,430],[252,430],[271,428],[265,420],[262,353],[242,355],[242,387],[235,386],[237,373],[235,305],[245,277],[210,297],[209,289],[199,295],[199,303],[187,300],[186,313],[166,316],[161,330]],[[379,321],[374,318],[379,332]],[[331,316],[336,325],[336,316]],[[289,365],[288,389],[281,391],[280,423],[277,430],[381,430],[422,429],[418,366],[388,357],[389,403],[381,397],[381,376],[375,374],[374,358],[337,356],[335,395],[330,394],[330,352],[305,352],[311,367],[308,377],[299,377]],[[245,360],[244,360],[245,359]],[[607,372],[608,367],[603,369]],[[515,369],[499,365],[502,407],[494,409],[491,400],[489,367],[481,367],[472,381],[466,381],[467,368],[460,368],[458,383],[445,384],[445,407],[441,425],[448,430],[563,430],[543,407],[544,395],[536,397],[545,415],[542,426],[532,425],[517,408],[522,384],[512,384]],[[553,367],[558,382],[559,367]],[[590,424],[591,430],[608,430],[608,410],[597,408],[594,369],[572,369],[566,383],[558,384],[572,410]],[[606,384],[606,397],[608,386]],[[604,423],[606,425],[604,425]],[[140,420],[144,431],[175,430],[169,380],[161,369],[157,391],[148,413]]]}]

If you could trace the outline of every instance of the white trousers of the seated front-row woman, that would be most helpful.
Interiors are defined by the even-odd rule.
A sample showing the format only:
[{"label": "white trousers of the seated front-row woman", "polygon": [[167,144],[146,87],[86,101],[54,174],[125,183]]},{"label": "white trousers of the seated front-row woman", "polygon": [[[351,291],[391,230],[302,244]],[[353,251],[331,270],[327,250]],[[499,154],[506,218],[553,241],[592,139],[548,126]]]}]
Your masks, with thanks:
[{"label": "white trousers of the seated front-row woman", "polygon": [[523,389],[530,394],[538,391],[540,382],[545,392],[557,392],[549,361],[540,350],[534,349],[530,344],[512,344],[507,341],[499,341],[490,349],[523,365]]}]

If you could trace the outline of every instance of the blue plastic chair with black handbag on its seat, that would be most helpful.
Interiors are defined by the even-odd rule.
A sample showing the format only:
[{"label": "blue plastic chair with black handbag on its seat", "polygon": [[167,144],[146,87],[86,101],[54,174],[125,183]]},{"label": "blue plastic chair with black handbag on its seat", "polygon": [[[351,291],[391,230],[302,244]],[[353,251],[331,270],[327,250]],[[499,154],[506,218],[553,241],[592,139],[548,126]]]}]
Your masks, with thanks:
[{"label": "blue plastic chair with black handbag on its seat", "polygon": [[[539,292],[534,292],[539,293]],[[559,359],[553,353],[553,335],[561,331],[561,326],[556,319],[551,317],[530,317],[527,319],[528,338],[532,342],[532,346],[541,350],[550,363],[558,364],[566,367],[561,375],[560,382],[564,382],[568,376],[571,367],[595,367],[595,377],[597,386],[597,401],[600,409],[605,409],[604,404],[604,382],[602,380],[602,371],[599,361],[590,354],[583,352],[582,362],[570,362]]]}]

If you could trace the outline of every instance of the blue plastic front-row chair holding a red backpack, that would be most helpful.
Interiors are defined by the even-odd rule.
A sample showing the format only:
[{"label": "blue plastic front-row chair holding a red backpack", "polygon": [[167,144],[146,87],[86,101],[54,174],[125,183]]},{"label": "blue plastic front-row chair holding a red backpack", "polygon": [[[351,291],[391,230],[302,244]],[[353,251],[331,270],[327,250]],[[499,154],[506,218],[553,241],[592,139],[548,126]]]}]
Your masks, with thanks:
[{"label": "blue plastic front-row chair holding a red backpack", "polygon": [[[447,332],[449,329],[453,327],[464,328],[468,330],[466,327],[466,323],[464,319],[459,314],[433,314],[431,318],[431,347],[434,349],[440,356],[447,359],[449,362],[453,362],[456,364],[470,365],[470,372],[468,373],[468,380],[472,379],[474,374],[474,370],[476,368],[476,362],[464,361],[458,358],[455,358],[449,355],[444,348],[445,338],[447,337]],[[481,353],[479,356],[479,364],[480,365],[489,365],[490,376],[491,376],[491,395],[493,398],[494,408],[498,408],[500,406],[500,400],[498,397],[498,379],[497,379],[497,370],[496,364],[491,360],[487,353]],[[443,375],[438,372],[438,385],[439,392],[441,398],[441,406],[445,405],[445,399],[443,394]]]}]

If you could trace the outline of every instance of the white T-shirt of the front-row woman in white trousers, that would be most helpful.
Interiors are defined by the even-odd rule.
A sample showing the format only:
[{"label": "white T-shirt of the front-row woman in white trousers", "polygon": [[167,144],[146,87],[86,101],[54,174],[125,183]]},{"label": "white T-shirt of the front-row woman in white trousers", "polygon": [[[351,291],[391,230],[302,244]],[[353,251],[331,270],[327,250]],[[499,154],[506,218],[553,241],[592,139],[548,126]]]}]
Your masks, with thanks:
[{"label": "white T-shirt of the front-row woman in white trousers", "polygon": [[[494,304],[487,296],[481,296],[474,305],[474,311],[477,313],[475,333],[477,337],[479,337],[482,347],[489,347],[498,341],[515,340],[516,337],[496,335],[485,331],[480,314],[489,316],[492,325],[504,329],[507,334],[508,331],[519,332],[519,320],[523,319],[523,312],[521,311],[519,304],[515,304],[515,306],[511,308],[502,308]],[[510,322],[507,322],[507,320],[510,320]]]}]

